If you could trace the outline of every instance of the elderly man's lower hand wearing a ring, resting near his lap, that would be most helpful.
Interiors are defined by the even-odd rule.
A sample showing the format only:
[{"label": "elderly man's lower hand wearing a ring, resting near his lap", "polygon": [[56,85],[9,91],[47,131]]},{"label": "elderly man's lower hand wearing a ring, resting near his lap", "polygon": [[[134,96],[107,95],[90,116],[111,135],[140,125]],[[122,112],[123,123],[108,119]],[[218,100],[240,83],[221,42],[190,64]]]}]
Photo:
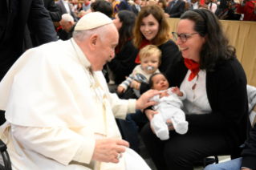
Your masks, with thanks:
[{"label": "elderly man's lower hand wearing a ring, resting near his lap", "polygon": [[117,164],[119,163],[119,160],[116,158],[119,153],[122,157],[122,153],[125,152],[125,147],[129,147],[129,143],[125,140],[96,140],[91,160]]}]

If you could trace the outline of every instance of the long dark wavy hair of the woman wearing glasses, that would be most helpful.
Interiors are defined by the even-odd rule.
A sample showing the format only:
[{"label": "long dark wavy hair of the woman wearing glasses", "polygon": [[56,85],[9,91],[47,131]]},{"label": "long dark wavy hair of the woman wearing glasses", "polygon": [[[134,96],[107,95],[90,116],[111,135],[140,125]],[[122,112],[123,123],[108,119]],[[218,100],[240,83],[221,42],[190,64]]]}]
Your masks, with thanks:
[{"label": "long dark wavy hair of the woman wearing glasses", "polygon": [[[200,69],[214,71],[214,67],[220,66],[229,59],[235,59],[235,48],[229,45],[229,39],[222,30],[221,22],[210,10],[197,9],[186,11],[181,15],[182,19],[195,22],[193,30],[206,36],[206,42],[200,52]],[[201,14],[202,13],[202,14]]]}]

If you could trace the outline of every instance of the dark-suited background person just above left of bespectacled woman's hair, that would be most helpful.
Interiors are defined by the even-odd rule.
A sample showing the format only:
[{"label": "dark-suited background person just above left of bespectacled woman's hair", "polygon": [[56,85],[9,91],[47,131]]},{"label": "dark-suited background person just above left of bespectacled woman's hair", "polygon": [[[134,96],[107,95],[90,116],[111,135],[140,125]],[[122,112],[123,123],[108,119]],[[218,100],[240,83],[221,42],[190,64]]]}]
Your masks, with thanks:
[{"label": "dark-suited background person just above left of bespectacled woman's hair", "polygon": [[173,0],[169,2],[166,18],[180,18],[181,14],[185,12],[185,2],[183,0]]}]

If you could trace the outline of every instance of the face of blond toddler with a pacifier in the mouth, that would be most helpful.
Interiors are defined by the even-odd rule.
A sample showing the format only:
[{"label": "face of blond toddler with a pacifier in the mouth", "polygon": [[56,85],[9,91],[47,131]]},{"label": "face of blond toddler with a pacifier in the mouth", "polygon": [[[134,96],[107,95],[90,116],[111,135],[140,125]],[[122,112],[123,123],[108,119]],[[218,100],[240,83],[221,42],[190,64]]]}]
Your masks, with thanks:
[{"label": "face of blond toddler with a pacifier in the mouth", "polygon": [[159,66],[159,57],[157,55],[143,57],[140,60],[140,65],[146,73],[152,74],[156,71],[157,67]]}]

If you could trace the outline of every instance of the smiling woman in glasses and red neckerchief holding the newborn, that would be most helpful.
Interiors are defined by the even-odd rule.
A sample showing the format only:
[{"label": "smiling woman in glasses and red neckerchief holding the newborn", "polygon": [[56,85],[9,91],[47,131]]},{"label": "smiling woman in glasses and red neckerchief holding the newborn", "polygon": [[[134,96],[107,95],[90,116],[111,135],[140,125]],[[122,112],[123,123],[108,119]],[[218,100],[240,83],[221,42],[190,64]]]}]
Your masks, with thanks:
[{"label": "smiling woman in glasses and red neckerchief holding the newborn", "polygon": [[[207,156],[239,157],[250,129],[246,74],[221,23],[210,10],[189,10],[181,15],[173,37],[181,56],[165,75],[169,87],[187,95],[182,109],[189,131],[180,135],[171,125],[169,140],[160,140],[150,123],[144,126],[141,137],[156,168],[193,170],[193,162]],[[151,120],[156,111],[145,114]]]}]

